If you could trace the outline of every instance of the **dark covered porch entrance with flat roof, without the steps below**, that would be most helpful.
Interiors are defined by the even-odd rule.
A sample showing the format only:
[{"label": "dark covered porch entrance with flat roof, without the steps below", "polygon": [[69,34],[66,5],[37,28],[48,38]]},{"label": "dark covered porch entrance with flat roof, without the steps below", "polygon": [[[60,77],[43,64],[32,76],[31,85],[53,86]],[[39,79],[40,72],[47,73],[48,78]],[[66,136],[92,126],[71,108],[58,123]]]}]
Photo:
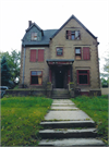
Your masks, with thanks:
[{"label": "dark covered porch entrance with flat roof, without the steps below", "polygon": [[68,88],[68,84],[73,82],[72,64],[74,60],[49,59],[47,60],[49,66],[49,82],[52,83],[53,88]]}]

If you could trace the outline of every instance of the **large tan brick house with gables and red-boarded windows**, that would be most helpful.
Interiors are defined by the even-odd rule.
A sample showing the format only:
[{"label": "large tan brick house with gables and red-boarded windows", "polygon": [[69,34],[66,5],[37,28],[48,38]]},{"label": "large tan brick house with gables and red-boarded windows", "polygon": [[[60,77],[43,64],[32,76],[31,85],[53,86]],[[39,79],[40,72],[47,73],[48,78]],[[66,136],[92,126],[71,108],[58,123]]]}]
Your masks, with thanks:
[{"label": "large tan brick house with gables and red-boarded windows", "polygon": [[68,88],[70,82],[81,94],[100,90],[98,45],[74,15],[59,29],[43,30],[29,21],[22,39],[21,84],[44,88]]}]

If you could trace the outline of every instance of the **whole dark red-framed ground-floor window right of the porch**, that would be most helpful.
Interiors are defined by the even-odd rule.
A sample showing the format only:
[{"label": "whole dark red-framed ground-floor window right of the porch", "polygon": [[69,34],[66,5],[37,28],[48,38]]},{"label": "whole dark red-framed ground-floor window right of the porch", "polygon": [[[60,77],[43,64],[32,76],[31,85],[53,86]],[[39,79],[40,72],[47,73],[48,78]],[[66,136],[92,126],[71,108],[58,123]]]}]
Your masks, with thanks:
[{"label": "whole dark red-framed ground-floor window right of the porch", "polygon": [[89,70],[78,70],[77,71],[77,84],[78,85],[89,85]]}]

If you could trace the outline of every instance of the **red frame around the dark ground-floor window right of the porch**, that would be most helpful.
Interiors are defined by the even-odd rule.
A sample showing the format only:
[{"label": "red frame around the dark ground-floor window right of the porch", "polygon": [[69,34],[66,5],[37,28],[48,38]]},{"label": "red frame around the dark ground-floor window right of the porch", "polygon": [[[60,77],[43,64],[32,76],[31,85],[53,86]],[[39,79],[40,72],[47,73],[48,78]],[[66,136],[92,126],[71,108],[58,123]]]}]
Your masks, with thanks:
[{"label": "red frame around the dark ground-floor window right of the porch", "polygon": [[[87,73],[78,73],[80,71],[87,71]],[[89,85],[89,70],[77,70],[77,85]],[[87,75],[87,84],[80,84],[80,75]]]}]

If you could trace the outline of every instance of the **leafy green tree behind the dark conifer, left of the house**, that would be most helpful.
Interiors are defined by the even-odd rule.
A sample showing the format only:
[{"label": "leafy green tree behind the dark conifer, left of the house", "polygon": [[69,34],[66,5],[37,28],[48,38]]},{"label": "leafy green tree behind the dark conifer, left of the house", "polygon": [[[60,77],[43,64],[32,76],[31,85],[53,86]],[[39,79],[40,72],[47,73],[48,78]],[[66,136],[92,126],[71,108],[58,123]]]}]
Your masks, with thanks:
[{"label": "leafy green tree behind the dark conifer, left of the house", "polygon": [[10,74],[11,74],[11,81],[14,84],[17,84],[20,81],[20,59],[21,59],[21,52],[16,52],[16,50],[12,50],[11,53],[7,52],[0,52],[0,58],[5,57]]}]

